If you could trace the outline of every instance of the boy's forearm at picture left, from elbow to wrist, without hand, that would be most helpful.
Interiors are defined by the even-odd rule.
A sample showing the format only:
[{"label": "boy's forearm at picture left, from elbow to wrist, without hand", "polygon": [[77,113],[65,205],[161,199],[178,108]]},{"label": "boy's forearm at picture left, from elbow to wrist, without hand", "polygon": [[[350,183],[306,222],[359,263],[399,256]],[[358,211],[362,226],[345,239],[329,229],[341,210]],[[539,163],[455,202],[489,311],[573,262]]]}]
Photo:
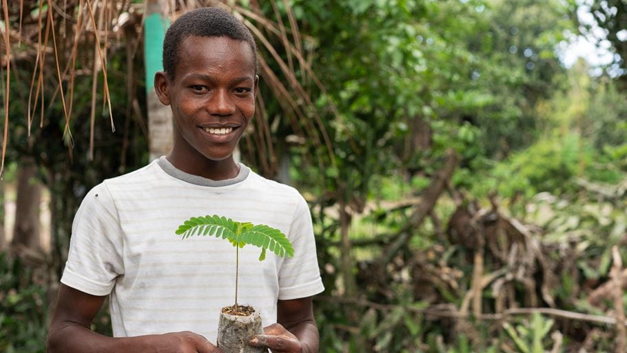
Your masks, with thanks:
[{"label": "boy's forearm at picture left, from elbow to wrist, without hand", "polygon": [[78,323],[53,325],[48,336],[48,352],[109,353],[152,352],[150,342],[156,335],[113,338],[93,332]]}]

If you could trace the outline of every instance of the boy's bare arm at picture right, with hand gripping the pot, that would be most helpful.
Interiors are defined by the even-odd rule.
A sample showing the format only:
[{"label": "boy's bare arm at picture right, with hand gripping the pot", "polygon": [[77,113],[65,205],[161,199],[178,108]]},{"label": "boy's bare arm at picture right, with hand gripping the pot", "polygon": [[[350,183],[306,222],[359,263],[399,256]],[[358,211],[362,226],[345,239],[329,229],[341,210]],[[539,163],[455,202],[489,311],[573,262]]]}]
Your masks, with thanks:
[{"label": "boy's bare arm at picture right, with hand gripping the pot", "polygon": [[318,352],[320,337],[314,321],[311,296],[278,301],[277,321],[264,328],[251,345],[271,348],[276,353]]}]

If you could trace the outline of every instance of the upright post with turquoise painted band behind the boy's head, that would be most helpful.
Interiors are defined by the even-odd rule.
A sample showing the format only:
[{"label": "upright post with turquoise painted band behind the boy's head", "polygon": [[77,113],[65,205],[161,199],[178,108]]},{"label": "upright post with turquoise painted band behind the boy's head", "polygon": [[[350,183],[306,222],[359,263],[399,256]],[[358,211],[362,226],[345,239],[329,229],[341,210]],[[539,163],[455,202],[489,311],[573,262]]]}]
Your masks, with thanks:
[{"label": "upright post with turquoise painted band behind the boy's head", "polygon": [[154,74],[163,70],[163,37],[169,21],[163,17],[158,0],[148,0],[144,21],[144,58],[146,65],[146,99],[148,105],[148,149],[150,160],[172,150],[172,112],[161,104],[154,92]]}]

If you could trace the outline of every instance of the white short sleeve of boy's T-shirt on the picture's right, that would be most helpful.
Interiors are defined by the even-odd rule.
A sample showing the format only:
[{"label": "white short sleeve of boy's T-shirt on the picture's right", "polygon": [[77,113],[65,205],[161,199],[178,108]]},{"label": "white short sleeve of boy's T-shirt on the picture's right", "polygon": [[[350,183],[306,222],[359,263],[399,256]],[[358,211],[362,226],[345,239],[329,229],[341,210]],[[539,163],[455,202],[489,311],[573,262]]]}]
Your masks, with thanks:
[{"label": "white short sleeve of boy's T-shirt on the picture's right", "polygon": [[283,261],[279,272],[278,299],[289,300],[313,296],[325,290],[318,269],[314,228],[305,199],[298,195],[287,237],[294,245],[294,256]]}]

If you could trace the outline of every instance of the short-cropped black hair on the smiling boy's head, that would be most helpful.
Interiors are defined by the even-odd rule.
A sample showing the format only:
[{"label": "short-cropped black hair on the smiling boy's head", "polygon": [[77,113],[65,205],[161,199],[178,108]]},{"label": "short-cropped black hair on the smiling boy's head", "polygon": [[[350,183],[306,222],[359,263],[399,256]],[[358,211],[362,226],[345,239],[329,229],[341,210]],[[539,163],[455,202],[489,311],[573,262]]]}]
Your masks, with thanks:
[{"label": "short-cropped black hair on the smiling boy's head", "polygon": [[249,43],[257,72],[257,46],[250,30],[232,14],[221,8],[198,8],[183,14],[169,26],[163,39],[163,70],[174,79],[178,48],[189,36],[229,37]]}]

